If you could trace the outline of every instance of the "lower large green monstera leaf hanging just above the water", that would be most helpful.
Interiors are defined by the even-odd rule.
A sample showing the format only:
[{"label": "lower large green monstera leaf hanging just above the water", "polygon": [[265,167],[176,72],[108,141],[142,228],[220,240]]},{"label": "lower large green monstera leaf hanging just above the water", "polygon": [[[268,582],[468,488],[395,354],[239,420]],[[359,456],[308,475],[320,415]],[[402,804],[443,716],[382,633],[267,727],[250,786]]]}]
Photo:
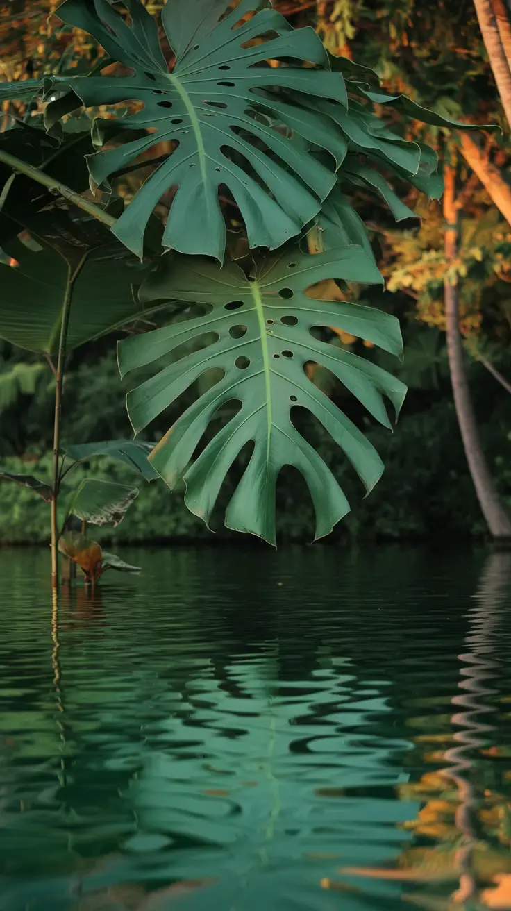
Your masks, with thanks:
[{"label": "lower large green monstera leaf hanging just above the water", "polygon": [[[304,476],[316,511],[316,537],[327,535],[349,511],[330,469],[291,421],[294,405],[308,409],[352,462],[369,491],[383,472],[380,456],[355,425],[312,384],[304,365],[315,361],[332,371],[377,421],[390,426],[383,394],[397,413],[405,387],[373,363],[315,338],[311,330],[329,326],[352,333],[399,355],[397,320],[349,302],[317,301],[307,289],[322,279],[382,281],[372,258],[359,246],[306,255],[281,251],[256,265],[251,278],[235,263],[223,269],[207,260],[163,258],[140,289],[144,303],[165,298],[205,304],[208,312],[173,323],[118,345],[121,374],[156,361],[201,336],[216,341],[171,363],[128,393],[128,414],[138,433],[210,367],[223,378],[199,397],[150,455],[151,464],[172,488],[181,477],[186,503],[206,522],[224,477],[242,447],[253,452],[226,514],[226,525],[274,543],[275,487],[282,466]],[[189,466],[199,441],[220,406],[240,410]],[[189,467],[188,467],[189,466]],[[187,470],[188,468],[188,470]]]}]

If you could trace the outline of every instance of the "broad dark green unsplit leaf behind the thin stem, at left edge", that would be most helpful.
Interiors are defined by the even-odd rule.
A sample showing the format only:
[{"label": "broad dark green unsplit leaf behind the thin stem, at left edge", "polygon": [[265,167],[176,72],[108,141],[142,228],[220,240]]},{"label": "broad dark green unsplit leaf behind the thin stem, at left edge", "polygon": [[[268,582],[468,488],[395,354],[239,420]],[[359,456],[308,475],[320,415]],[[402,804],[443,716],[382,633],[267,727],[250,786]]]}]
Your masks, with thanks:
[{"label": "broad dark green unsplit leaf behind the thin stem, at left edge", "polygon": [[[0,338],[26,351],[56,353],[69,266],[49,247],[34,252],[17,242],[9,252],[19,265],[0,263]],[[131,288],[144,275],[134,259],[90,253],[73,287],[67,349],[141,317]]]}]

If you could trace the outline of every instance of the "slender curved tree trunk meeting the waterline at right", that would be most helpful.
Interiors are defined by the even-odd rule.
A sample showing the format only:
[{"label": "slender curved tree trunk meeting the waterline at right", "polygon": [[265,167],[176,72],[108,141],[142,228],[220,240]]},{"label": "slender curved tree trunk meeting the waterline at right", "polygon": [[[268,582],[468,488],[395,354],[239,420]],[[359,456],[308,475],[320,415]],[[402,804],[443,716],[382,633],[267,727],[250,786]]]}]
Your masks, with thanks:
[{"label": "slender curved tree trunk meeting the waterline at right", "polygon": [[[456,255],[458,229],[455,205],[455,170],[445,165],[445,259],[453,261]],[[458,323],[457,286],[447,276],[445,288],[445,321],[447,332],[447,353],[455,410],[465,449],[470,476],[475,493],[493,537],[511,537],[511,519],[499,501],[494,480],[490,475],[481,445],[479,429],[475,422],[474,408],[470,397],[465,367],[463,343]]]}]

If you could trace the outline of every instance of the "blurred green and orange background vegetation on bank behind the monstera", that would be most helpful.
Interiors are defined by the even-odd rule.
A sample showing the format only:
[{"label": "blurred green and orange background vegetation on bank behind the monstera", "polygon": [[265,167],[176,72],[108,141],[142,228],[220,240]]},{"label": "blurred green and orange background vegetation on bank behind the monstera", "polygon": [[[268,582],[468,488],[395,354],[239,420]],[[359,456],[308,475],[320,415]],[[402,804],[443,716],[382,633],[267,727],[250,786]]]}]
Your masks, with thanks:
[{"label": "blurred green and orange background vegetation on bank behind the monstera", "polygon": [[[147,5],[151,12],[158,11],[158,3]],[[406,204],[423,220],[405,220],[396,227],[383,204],[380,208],[373,197],[365,197],[363,191],[359,194],[359,211],[373,231],[373,250],[388,289],[384,294],[379,289],[363,289],[360,302],[377,304],[399,316],[404,333],[405,361],[397,375],[410,392],[396,432],[392,435],[375,427],[341,384],[332,383],[320,370],[315,375],[316,382],[363,427],[385,464],[382,481],[361,504],[352,469],[320,425],[314,427],[315,435],[322,434],[323,458],[342,479],[353,504],[353,513],[336,529],[333,539],[484,534],[485,522],[455,417],[444,307],[445,277],[454,275],[483,448],[497,489],[511,505],[511,386],[506,388],[506,377],[511,382],[511,228],[503,214],[507,211],[506,188],[511,199],[511,155],[475,7],[472,0],[461,5],[458,0],[445,0],[431,10],[414,0],[280,0],[275,5],[294,25],[315,26],[332,53],[373,67],[383,86],[394,94],[406,92],[419,104],[450,118],[496,121],[505,128],[503,138],[492,134],[476,141],[465,134],[462,139],[447,141],[438,128],[416,121],[408,127],[406,138],[429,142],[455,169],[461,210],[459,250],[454,260],[445,256],[441,203],[427,203],[412,189]],[[56,66],[61,73],[87,72],[94,65],[97,46],[52,17],[55,8],[53,0],[30,5],[25,0],[0,3],[0,78],[41,77]],[[0,129],[5,128],[9,113],[5,102]],[[478,159],[473,167],[475,154]],[[129,197],[133,189],[128,178],[123,192]],[[65,444],[130,435],[124,395],[138,381],[130,378],[123,385],[118,378],[118,337],[110,335],[71,355],[64,390]],[[355,351],[362,345],[344,333],[338,343]],[[391,367],[375,350],[364,353]],[[394,365],[392,369],[396,373]],[[0,459],[8,470],[30,469],[37,476],[49,477],[53,395],[53,377],[46,364],[0,342]],[[179,408],[175,412],[151,428],[155,439],[165,433]],[[304,432],[307,434],[306,427]],[[107,460],[98,465],[105,477],[127,483],[133,480],[122,466]],[[219,517],[232,489],[232,482],[222,489]],[[279,496],[284,507],[280,510],[281,535],[311,537],[312,507],[301,478],[291,470],[282,473]],[[220,531],[220,518],[213,527]],[[228,533],[221,530],[220,534]],[[163,484],[152,484],[141,490],[115,531],[103,532],[103,539],[150,541],[207,535],[180,496],[171,496]],[[28,490],[1,485],[0,541],[46,540],[46,505],[35,502]]]}]

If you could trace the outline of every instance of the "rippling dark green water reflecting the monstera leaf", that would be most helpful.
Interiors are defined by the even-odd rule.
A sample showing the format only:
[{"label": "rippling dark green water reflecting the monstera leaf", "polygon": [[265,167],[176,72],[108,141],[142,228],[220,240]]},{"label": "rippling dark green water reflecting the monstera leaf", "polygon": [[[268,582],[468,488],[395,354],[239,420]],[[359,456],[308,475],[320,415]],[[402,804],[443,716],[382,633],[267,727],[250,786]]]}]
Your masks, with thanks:
[{"label": "rippling dark green water reflecting the monstera leaf", "polygon": [[122,556],[0,551],[2,911],[511,907],[510,555]]}]

